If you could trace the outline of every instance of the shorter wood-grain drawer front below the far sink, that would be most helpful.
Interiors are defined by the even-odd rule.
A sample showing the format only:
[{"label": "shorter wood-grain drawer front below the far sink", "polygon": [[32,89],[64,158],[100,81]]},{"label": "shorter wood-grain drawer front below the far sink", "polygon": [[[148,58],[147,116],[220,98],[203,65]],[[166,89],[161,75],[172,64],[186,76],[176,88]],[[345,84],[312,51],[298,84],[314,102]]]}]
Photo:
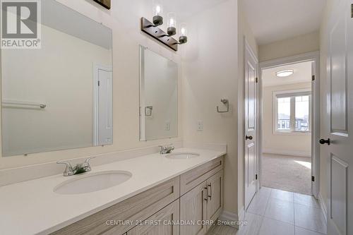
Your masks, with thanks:
[{"label": "shorter wood-grain drawer front below the far sink", "polygon": [[218,157],[180,176],[180,194],[184,195],[203,181],[223,169],[224,157]]}]

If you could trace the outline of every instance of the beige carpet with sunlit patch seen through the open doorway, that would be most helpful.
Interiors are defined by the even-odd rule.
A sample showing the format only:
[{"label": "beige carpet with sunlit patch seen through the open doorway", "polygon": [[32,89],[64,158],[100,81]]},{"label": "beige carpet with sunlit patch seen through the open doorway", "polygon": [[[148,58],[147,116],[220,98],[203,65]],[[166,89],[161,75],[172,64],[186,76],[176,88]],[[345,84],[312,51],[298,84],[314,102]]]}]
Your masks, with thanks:
[{"label": "beige carpet with sunlit patch seen through the open doorway", "polygon": [[311,194],[311,158],[263,154],[263,183],[294,193]]}]

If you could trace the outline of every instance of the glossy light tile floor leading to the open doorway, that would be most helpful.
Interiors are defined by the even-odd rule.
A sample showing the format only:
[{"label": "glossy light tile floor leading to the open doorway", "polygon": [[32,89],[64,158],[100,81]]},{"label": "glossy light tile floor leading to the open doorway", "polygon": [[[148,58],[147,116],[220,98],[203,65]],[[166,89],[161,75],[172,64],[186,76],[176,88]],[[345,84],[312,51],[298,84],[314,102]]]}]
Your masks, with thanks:
[{"label": "glossy light tile floor leading to the open doorway", "polygon": [[274,188],[261,188],[239,230],[215,226],[208,235],[322,235],[326,224],[315,198]]}]

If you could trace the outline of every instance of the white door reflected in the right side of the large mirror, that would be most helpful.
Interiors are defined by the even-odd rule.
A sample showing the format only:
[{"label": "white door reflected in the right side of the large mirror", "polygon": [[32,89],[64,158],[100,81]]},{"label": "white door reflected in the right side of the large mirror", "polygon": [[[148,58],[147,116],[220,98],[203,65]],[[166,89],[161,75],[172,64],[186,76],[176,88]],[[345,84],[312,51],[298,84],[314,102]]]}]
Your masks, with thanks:
[{"label": "white door reflected in the right side of the large mirror", "polygon": [[95,67],[94,142],[95,145],[113,143],[112,71]]}]

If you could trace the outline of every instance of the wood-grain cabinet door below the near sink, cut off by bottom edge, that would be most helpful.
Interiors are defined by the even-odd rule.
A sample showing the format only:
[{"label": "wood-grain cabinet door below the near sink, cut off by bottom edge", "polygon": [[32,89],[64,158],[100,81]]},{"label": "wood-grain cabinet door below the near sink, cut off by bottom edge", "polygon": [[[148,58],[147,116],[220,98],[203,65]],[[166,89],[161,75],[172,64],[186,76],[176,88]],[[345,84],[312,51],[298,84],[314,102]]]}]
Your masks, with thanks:
[{"label": "wood-grain cabinet door below the near sink, cut off by bottom edge", "polygon": [[179,235],[179,200],[141,222],[127,235]]}]

